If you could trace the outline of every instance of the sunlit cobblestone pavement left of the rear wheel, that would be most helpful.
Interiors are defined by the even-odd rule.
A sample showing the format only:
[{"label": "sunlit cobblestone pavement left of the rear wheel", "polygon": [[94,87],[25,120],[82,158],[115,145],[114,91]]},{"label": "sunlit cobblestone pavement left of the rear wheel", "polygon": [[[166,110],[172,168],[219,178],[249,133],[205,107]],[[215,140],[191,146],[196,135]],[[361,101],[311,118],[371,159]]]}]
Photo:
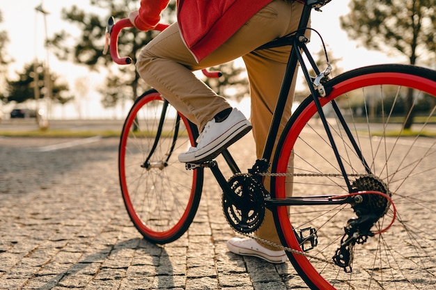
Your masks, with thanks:
[{"label": "sunlit cobblestone pavement left of the rear wheel", "polygon": [[141,239],[117,150],[118,138],[0,137],[0,289],[307,289],[289,262],[228,252],[235,234],[209,171],[187,234],[164,246]]}]

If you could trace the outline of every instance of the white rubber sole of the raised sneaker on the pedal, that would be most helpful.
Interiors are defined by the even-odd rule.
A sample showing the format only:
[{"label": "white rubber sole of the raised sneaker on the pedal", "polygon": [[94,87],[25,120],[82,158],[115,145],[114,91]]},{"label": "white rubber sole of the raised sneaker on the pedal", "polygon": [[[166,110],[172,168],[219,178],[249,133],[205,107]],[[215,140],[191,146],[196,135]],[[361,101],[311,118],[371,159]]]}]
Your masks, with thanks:
[{"label": "white rubber sole of the raised sneaker on the pedal", "polygon": [[[199,154],[198,156],[194,156],[194,159],[180,159],[179,161],[183,163],[202,163],[205,161],[210,161],[217,157],[221,152],[226,150],[230,145],[238,141],[240,138],[245,136],[250,130],[252,126],[249,121],[244,121],[240,127],[226,139],[219,143],[219,147],[212,147],[210,150]],[[195,153],[194,153],[195,154]]]}]

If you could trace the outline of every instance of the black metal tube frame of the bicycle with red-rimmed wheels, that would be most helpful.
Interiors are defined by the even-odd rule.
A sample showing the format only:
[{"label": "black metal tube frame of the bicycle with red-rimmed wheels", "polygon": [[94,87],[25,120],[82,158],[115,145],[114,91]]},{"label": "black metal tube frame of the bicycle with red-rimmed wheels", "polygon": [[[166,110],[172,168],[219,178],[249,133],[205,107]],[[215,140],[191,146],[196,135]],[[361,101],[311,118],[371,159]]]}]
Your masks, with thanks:
[{"label": "black metal tube frame of the bicycle with red-rimmed wheels", "polygon": [[[290,56],[288,58],[288,64],[286,66],[286,72],[283,76],[283,82],[281,84],[281,89],[279,92],[279,97],[277,99],[276,104],[276,110],[274,110],[274,114],[272,117],[272,122],[270,125],[270,131],[267,136],[267,142],[265,144],[264,150],[263,150],[263,156],[262,159],[259,159],[256,161],[255,165],[249,172],[253,173],[254,175],[258,175],[260,173],[267,172],[267,168],[270,166],[270,160],[272,158],[272,152],[275,140],[277,140],[277,136],[279,134],[279,126],[281,123],[281,118],[283,117],[283,109],[286,106],[286,102],[288,101],[288,94],[290,91],[290,87],[294,78],[295,74],[295,67],[297,67],[297,63],[300,64],[302,72],[304,74],[304,78],[306,79],[307,83],[311,84],[312,79],[309,75],[309,70],[307,69],[306,64],[304,63],[304,59],[302,56],[302,52],[305,54],[306,58],[308,59],[311,67],[313,68],[314,72],[318,75],[320,74],[320,70],[318,69],[318,66],[316,65],[316,62],[313,60],[313,57],[311,56],[309,49],[306,47],[306,42],[309,42],[309,39],[306,38],[304,35],[307,28],[307,24],[309,23],[310,15],[311,15],[311,6],[305,5],[302,12],[302,17],[299,21],[298,29],[295,33],[292,35],[288,35],[283,38],[279,38],[277,40],[273,40],[272,42],[268,42],[265,45],[262,45],[261,47],[258,47],[256,50],[260,49],[269,49],[272,47],[282,47],[286,45],[291,45],[292,49],[290,52]],[[345,167],[343,166],[343,162],[341,160],[341,156],[339,155],[338,149],[336,147],[336,143],[334,142],[334,138],[332,136],[332,132],[329,129],[329,126],[327,124],[327,119],[325,117],[324,112],[322,111],[322,106],[320,104],[320,94],[316,88],[313,86],[309,86],[309,89],[311,90],[311,95],[313,97],[313,101],[316,104],[316,108],[318,110],[318,113],[320,115],[320,120],[322,120],[322,124],[325,127],[325,131],[327,133],[327,136],[329,138],[329,141],[332,145],[332,148],[334,150],[334,154],[336,156],[336,160],[338,161],[338,165],[341,168],[341,173],[343,175],[343,178],[345,179],[345,183],[348,186],[348,191],[351,192],[351,184],[350,180],[348,179],[348,175],[345,172]],[[328,92],[328,88],[327,88]],[[350,138],[350,142],[352,143],[353,147],[355,148],[357,155],[360,157],[362,163],[364,163],[364,166],[366,167],[367,172],[369,173],[369,167],[364,160],[359,147],[357,145],[357,142],[353,138],[350,129],[348,128],[348,125],[345,123],[345,120],[343,119],[343,116],[341,115],[341,112],[338,109],[338,106],[336,105],[336,102],[332,101],[334,111],[336,112],[336,115],[338,115],[338,118],[340,122],[343,125],[343,128],[345,129],[345,132]],[[166,108],[162,111],[162,116],[165,115]],[[162,117],[164,118],[164,117]],[[161,120],[162,121],[162,120]],[[193,127],[194,125],[190,123]],[[159,122],[159,130],[162,129],[162,123]],[[196,136],[194,136],[196,137]],[[159,134],[157,135],[157,139],[159,138]],[[177,138],[177,135],[174,136],[174,138]],[[174,142],[176,140],[173,140]],[[157,141],[156,141],[157,142]],[[153,152],[153,150],[152,150]],[[171,155],[171,152],[169,154]],[[150,153],[152,154],[152,153]],[[228,150],[224,150],[224,152],[221,153],[224,159],[226,160],[227,165],[233,172],[233,174],[239,173],[240,168],[238,168],[238,165],[236,164],[235,160],[231,156],[230,152]],[[221,186],[221,189],[224,191],[224,194],[231,193],[231,188],[228,185],[227,179],[222,174],[221,170],[218,168],[218,164],[216,161],[208,161],[201,164],[192,164],[187,163],[187,169],[194,169],[194,168],[210,168],[212,170],[212,174],[215,176],[215,179],[217,179],[217,182],[219,186]],[[259,175],[258,175],[259,177]],[[272,182],[272,185],[274,185],[274,182]],[[274,191],[274,186],[272,186],[272,191]],[[226,195],[227,198],[232,200],[231,194]],[[284,199],[274,199],[270,198],[270,196],[267,196],[265,198],[265,207],[278,207],[278,206],[296,206],[296,205],[321,205],[321,204],[346,204],[350,203],[352,200],[350,198],[341,198],[337,195],[321,195],[321,196],[307,196],[307,197],[299,197],[299,198],[284,198]]]}]

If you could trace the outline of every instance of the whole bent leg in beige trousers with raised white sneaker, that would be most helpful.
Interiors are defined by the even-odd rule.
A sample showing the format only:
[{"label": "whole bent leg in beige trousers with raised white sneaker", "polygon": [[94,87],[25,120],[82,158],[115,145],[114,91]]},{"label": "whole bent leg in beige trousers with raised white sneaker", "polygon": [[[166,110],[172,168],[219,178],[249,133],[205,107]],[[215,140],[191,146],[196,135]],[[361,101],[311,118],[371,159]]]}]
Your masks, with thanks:
[{"label": "whole bent leg in beige trousers with raised white sneaker", "polygon": [[288,4],[283,0],[274,0],[265,6],[200,63],[196,63],[185,47],[176,25],[160,33],[141,51],[137,60],[141,77],[197,124],[201,131],[196,147],[180,154],[179,161],[202,162],[213,159],[251,129],[251,124],[236,109],[228,115],[228,120],[217,124],[217,118],[214,117],[230,106],[224,97],[218,96],[191,71],[232,61],[265,42],[292,32],[288,30],[292,12]]}]

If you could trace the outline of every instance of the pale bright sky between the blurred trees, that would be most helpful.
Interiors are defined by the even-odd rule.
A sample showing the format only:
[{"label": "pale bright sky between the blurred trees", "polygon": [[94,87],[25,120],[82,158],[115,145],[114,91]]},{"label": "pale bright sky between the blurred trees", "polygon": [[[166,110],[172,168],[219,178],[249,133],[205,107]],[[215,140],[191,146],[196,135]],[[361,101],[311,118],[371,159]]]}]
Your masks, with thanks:
[{"label": "pale bright sky between the blurred trees", "polygon": [[[70,33],[75,33],[74,27],[61,20],[62,8],[70,8],[72,5],[77,5],[82,8],[91,9],[92,6],[89,5],[89,2],[90,0],[3,1],[0,6],[3,14],[0,31],[7,31],[10,42],[6,46],[6,51],[15,60],[14,63],[9,65],[9,77],[16,77],[16,72],[22,71],[24,64],[33,62],[34,58],[38,58],[40,61],[46,61],[47,59],[47,51],[44,47],[44,15],[35,10],[37,6],[42,3],[42,8],[49,13],[46,15],[45,20],[47,22],[47,35],[51,37],[54,33],[61,31],[61,29],[68,29]],[[345,70],[363,65],[398,61],[388,58],[385,54],[364,49],[358,42],[350,40],[345,31],[341,30],[339,16],[348,13],[348,2],[349,0],[334,0],[322,8],[322,13],[313,11],[312,14],[312,27],[321,33],[331,50],[329,53],[330,57],[341,58],[338,65]],[[132,7],[133,9],[134,7]],[[315,33],[312,33],[309,47],[313,48],[313,52],[317,52],[320,49],[320,42]],[[78,78],[84,79],[84,76],[86,76],[88,83],[102,83],[102,76],[89,73],[85,67],[63,63],[58,61],[52,54],[49,54],[48,60],[52,72],[67,81],[73,93],[75,93],[75,81]],[[91,88],[91,93],[83,97],[82,101],[86,102],[87,106],[100,106],[100,95],[93,92],[93,88]]]}]

